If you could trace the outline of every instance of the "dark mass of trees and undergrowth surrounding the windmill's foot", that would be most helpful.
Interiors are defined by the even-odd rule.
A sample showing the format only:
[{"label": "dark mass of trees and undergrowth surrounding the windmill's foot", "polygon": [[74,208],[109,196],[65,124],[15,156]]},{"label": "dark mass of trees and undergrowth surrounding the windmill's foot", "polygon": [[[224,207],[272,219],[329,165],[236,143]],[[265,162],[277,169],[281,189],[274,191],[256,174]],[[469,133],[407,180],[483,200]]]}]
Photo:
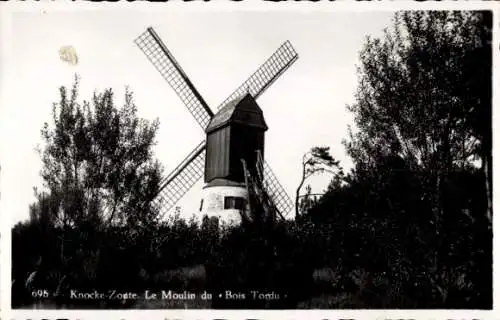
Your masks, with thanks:
[{"label": "dark mass of trees and undergrowth surrounding the windmill's foot", "polygon": [[[44,131],[48,191],[31,207],[32,219],[13,229],[13,306],[33,302],[30,288],[57,292],[55,300],[82,288],[215,293],[211,304],[190,307],[491,308],[491,19],[491,12],[402,12],[384,38],[367,39],[348,106],[356,127],[344,141],[354,167],[344,173],[327,149],[313,148],[302,178],[318,168],[314,159],[326,159],[334,177],[320,199],[297,204],[295,221],[227,227],[174,217],[156,224],[146,201],[159,180],[149,153],[154,126],[139,135],[110,130],[139,123],[122,122],[112,107],[102,112],[115,122],[99,122],[99,112],[68,116],[84,114],[78,108],[61,112],[56,135]],[[97,106],[111,103],[109,95],[96,97]],[[103,126],[92,130],[97,123]],[[142,156],[122,160],[131,150]],[[101,153],[107,156],[96,158]],[[104,219],[104,202],[116,218]],[[230,289],[281,298],[217,298]]]}]

